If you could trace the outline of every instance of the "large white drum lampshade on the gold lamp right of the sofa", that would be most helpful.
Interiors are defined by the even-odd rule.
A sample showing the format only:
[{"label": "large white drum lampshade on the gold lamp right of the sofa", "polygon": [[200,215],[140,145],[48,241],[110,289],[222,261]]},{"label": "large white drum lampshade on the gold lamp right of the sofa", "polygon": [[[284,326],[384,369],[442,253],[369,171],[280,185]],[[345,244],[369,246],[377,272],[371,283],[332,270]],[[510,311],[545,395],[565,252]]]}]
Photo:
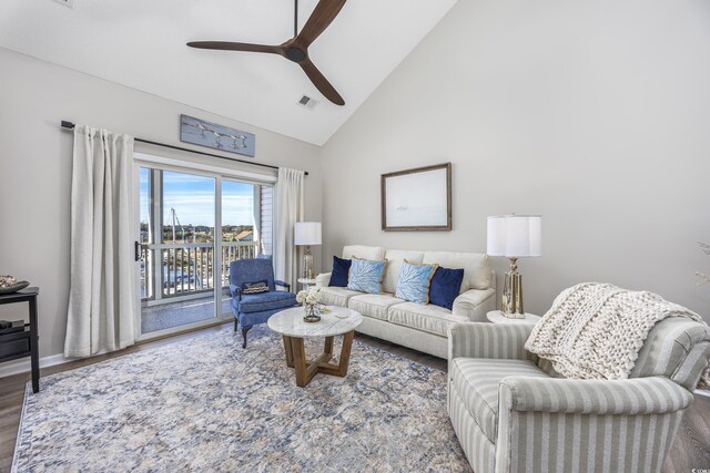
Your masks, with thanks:
[{"label": "large white drum lampshade on the gold lamp right of the sofa", "polygon": [[524,258],[542,256],[542,217],[498,215],[488,217],[488,255]]}]

